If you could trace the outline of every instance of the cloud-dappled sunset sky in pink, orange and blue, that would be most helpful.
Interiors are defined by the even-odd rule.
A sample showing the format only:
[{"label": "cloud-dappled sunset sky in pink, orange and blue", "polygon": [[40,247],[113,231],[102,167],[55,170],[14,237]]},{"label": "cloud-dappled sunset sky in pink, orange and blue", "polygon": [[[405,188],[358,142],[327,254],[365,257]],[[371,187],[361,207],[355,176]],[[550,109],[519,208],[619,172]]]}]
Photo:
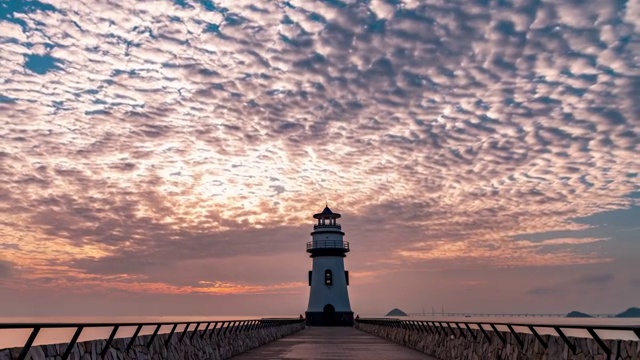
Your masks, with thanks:
[{"label": "cloud-dappled sunset sky in pink, orange and blue", "polygon": [[0,316],[640,306],[640,0],[0,0]]}]

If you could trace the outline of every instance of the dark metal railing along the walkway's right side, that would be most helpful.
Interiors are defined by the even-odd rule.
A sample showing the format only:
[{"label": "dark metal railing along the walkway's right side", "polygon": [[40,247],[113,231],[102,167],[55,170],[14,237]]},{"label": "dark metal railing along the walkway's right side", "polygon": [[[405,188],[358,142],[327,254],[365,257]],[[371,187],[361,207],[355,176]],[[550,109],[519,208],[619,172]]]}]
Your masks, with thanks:
[{"label": "dark metal railing along the walkway's right side", "polygon": [[[357,323],[362,324],[371,324],[378,325],[390,328],[401,328],[405,330],[414,330],[418,332],[425,332],[429,334],[445,334],[457,337],[467,338],[469,336],[474,341],[479,341],[476,337],[476,334],[471,331],[472,327],[477,327],[475,330],[480,330],[484,338],[487,342],[491,343],[491,338],[487,331],[493,331],[496,334],[496,337],[500,339],[503,345],[506,345],[506,339],[502,336],[500,330],[498,330],[497,326],[506,327],[508,332],[513,335],[513,338],[516,340],[520,349],[524,349],[524,341],[518,335],[518,333],[525,333],[522,331],[516,331],[514,327],[524,327],[527,328],[531,334],[536,338],[536,340],[540,343],[543,348],[547,348],[548,344],[545,339],[542,337],[538,330],[540,329],[551,329],[555,332],[565,344],[569,347],[571,352],[576,354],[576,344],[573,343],[565,334],[564,330],[568,329],[577,329],[577,330],[586,330],[591,338],[595,340],[598,346],[604,351],[607,356],[611,355],[611,349],[607,346],[607,344],[602,341],[600,336],[596,333],[596,331],[600,330],[609,330],[609,331],[631,331],[635,334],[635,336],[640,340],[640,325],[559,325],[559,324],[534,324],[534,323],[511,323],[511,322],[492,322],[492,321],[429,321],[429,320],[399,320],[399,319],[356,319]],[[453,326],[452,326],[453,324]],[[464,328],[460,325],[463,325]],[[485,327],[483,327],[483,325]],[[468,330],[468,331],[466,331]],[[456,333],[457,332],[457,333]],[[507,331],[505,331],[507,332]],[[546,334],[543,334],[546,335]],[[551,335],[553,336],[553,335]],[[479,335],[478,335],[479,337]]]}]

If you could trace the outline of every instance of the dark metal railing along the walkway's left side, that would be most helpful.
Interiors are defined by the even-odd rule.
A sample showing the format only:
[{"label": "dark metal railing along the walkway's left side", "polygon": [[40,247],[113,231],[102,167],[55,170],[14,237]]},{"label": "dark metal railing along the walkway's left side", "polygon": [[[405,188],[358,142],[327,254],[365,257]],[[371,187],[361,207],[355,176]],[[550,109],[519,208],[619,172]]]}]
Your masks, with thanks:
[{"label": "dark metal railing along the walkway's left side", "polygon": [[109,338],[107,339],[107,342],[105,343],[102,349],[102,352],[100,353],[100,356],[104,357],[107,351],[109,351],[109,348],[111,346],[111,343],[113,342],[113,339],[116,338],[116,333],[120,328],[123,328],[123,327],[136,328],[135,332],[133,333],[133,336],[131,337],[131,339],[129,340],[126,346],[126,350],[129,351],[131,349],[131,346],[133,346],[134,341],[136,341],[136,338],[140,334],[140,331],[142,330],[143,326],[155,326],[153,334],[151,335],[151,337],[149,338],[149,341],[147,341],[147,344],[146,344],[147,348],[150,348],[154,340],[156,339],[156,336],[158,335],[160,328],[162,326],[172,325],[171,331],[169,332],[169,336],[164,341],[165,347],[168,348],[169,342],[173,338],[178,325],[185,325],[184,329],[181,332],[179,332],[179,334],[181,335],[178,341],[182,343],[184,338],[187,336],[187,332],[189,332],[189,327],[193,324],[195,324],[195,327],[193,328],[193,330],[191,330],[190,339],[193,339],[196,336],[196,333],[200,329],[201,325],[206,325],[204,326],[203,329],[200,330],[201,333],[198,336],[200,336],[201,339],[204,339],[206,336],[208,336],[210,340],[213,340],[214,338],[218,338],[218,339],[222,338],[227,334],[240,334],[246,331],[259,330],[259,329],[271,328],[276,326],[285,326],[285,325],[290,325],[290,324],[295,324],[300,322],[304,322],[304,319],[255,319],[255,320],[235,320],[235,321],[234,320],[200,321],[200,322],[184,321],[184,322],[119,322],[119,323],[0,323],[0,333],[1,333],[1,330],[31,329],[31,334],[29,335],[27,342],[22,347],[22,350],[20,351],[20,354],[18,355],[18,359],[17,359],[17,360],[24,360],[29,354],[29,350],[31,349],[33,342],[36,340],[36,337],[38,336],[38,333],[40,332],[40,330],[75,328],[76,331],[73,334],[73,337],[71,338],[71,340],[68,342],[68,345],[64,351],[64,354],[62,355],[62,360],[67,360],[69,358],[69,355],[71,355],[71,351],[73,350],[73,347],[78,341],[78,338],[82,333],[82,330],[85,328],[112,328],[111,335],[109,335]]}]

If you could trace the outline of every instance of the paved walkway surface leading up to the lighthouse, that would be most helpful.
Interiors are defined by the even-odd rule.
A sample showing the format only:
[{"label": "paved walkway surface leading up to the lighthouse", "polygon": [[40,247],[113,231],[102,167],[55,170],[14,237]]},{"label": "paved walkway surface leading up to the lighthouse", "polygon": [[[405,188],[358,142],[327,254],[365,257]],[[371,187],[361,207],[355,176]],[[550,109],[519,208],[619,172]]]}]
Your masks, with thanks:
[{"label": "paved walkway surface leading up to the lighthouse", "polygon": [[350,327],[310,327],[233,359],[437,360]]}]

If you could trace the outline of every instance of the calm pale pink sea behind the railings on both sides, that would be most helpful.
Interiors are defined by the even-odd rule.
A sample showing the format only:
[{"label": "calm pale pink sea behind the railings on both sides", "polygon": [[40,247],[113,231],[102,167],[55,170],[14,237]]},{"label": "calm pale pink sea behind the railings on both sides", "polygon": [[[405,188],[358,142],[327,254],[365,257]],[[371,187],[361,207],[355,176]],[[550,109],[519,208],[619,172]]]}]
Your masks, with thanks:
[{"label": "calm pale pink sea behind the railings on both sides", "polygon": [[[111,316],[111,317],[0,317],[0,324],[30,324],[30,323],[154,323],[154,322],[209,322],[209,321],[225,321],[225,320],[254,320],[261,318],[297,318],[298,314],[292,316]],[[384,316],[368,316],[360,315],[362,318],[385,318]],[[526,325],[535,324],[536,331],[541,335],[557,335],[551,327],[545,328],[541,325],[558,325],[567,336],[586,337],[591,336],[587,330],[568,329],[563,326],[572,325],[591,325],[591,326],[625,326],[640,328],[640,318],[563,318],[563,317],[450,317],[450,316],[410,316],[410,317],[388,317],[403,320],[420,320],[420,321],[440,321],[450,322],[455,327],[454,322],[459,322],[460,326],[464,326],[463,322],[481,322],[505,324],[496,325],[499,331],[509,331],[506,324],[512,324],[517,332],[530,333]],[[176,332],[181,332],[185,325],[179,325]],[[190,326],[193,329],[194,325]],[[478,328],[471,324],[471,328]],[[489,326],[483,326],[490,329]],[[169,333],[172,325],[163,325],[159,333]],[[85,328],[78,341],[88,341],[96,339],[106,339],[112,331],[112,327]],[[123,326],[118,330],[116,337],[131,337],[136,329],[135,325]],[[200,327],[202,330],[203,327]],[[73,337],[75,328],[57,328],[40,330],[34,345],[67,343]],[[155,330],[155,325],[144,326],[139,335],[150,335]],[[602,339],[611,340],[633,340],[638,341],[638,337],[632,330],[597,330],[596,333]],[[31,329],[0,329],[0,349],[22,347],[29,335]]]}]

